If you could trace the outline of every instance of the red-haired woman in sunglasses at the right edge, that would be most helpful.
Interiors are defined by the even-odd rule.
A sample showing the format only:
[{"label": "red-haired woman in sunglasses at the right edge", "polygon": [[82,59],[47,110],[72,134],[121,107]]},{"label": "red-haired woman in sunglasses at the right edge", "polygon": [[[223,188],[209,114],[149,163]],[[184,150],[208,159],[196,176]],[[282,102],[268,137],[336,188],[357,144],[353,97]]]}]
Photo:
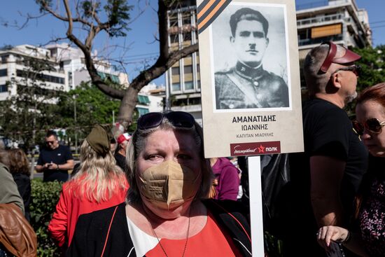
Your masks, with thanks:
[{"label": "red-haired woman in sunglasses at the right edge", "polygon": [[318,240],[325,249],[333,240],[360,256],[380,257],[385,253],[385,83],[361,92],[356,118],[353,127],[370,153],[368,172],[358,198],[360,232],[323,226],[318,230]]}]

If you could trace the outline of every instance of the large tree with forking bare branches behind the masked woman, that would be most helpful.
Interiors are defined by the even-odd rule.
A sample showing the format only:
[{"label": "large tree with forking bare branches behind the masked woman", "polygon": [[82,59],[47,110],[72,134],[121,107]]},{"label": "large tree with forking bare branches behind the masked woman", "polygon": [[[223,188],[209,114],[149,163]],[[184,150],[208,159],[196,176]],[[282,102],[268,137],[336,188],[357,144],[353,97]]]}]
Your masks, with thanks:
[{"label": "large tree with forking bare branches behind the masked woman", "polygon": [[[73,6],[68,0],[35,0],[40,6],[41,13],[50,14],[58,20],[66,22],[68,27],[66,38],[80,48],[85,55],[85,65],[94,85],[109,97],[121,99],[118,121],[125,127],[132,123],[132,115],[137,105],[137,95],[145,85],[158,78],[172,65],[183,57],[198,50],[197,44],[186,46],[182,49],[169,50],[167,29],[167,11],[176,8],[181,0],[158,0],[158,41],[159,57],[155,63],[144,68],[141,73],[132,80],[130,87],[125,90],[111,88],[97,73],[92,60],[92,43],[99,32],[106,32],[111,37],[126,36],[130,29],[130,11],[133,6],[127,4],[127,0],[104,1],[75,1]],[[60,4],[61,3],[61,4]],[[62,10],[62,12],[60,12]],[[102,21],[104,18],[104,21]],[[81,27],[85,34],[75,35],[74,27]],[[81,41],[81,38],[85,38]]]}]

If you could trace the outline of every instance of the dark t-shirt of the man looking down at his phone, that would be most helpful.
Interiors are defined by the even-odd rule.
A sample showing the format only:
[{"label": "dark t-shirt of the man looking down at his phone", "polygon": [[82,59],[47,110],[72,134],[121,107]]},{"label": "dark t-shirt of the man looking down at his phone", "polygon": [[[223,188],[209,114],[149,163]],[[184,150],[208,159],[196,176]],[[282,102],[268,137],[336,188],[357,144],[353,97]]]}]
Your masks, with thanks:
[{"label": "dark t-shirt of the man looking down at his phone", "polygon": [[[38,156],[37,165],[44,165],[45,163],[56,163],[58,165],[65,164],[67,160],[73,160],[71,151],[68,146],[59,145],[55,149],[43,148]],[[63,169],[44,169],[43,181],[67,181],[68,171]]]}]

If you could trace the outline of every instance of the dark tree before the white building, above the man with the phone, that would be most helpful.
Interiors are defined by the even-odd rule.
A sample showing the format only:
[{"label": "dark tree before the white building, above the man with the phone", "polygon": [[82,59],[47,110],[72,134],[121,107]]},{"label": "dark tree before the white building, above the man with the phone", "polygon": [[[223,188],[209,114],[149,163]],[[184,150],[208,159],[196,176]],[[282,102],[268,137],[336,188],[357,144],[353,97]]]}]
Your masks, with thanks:
[{"label": "dark tree before the white building, above the man with the phone", "polygon": [[45,130],[58,120],[57,106],[53,102],[60,88],[46,88],[44,72],[54,70],[48,60],[24,57],[18,62],[27,68],[18,74],[21,79],[8,81],[10,91],[17,93],[0,102],[0,126],[5,137],[19,141],[26,151],[31,151]]}]

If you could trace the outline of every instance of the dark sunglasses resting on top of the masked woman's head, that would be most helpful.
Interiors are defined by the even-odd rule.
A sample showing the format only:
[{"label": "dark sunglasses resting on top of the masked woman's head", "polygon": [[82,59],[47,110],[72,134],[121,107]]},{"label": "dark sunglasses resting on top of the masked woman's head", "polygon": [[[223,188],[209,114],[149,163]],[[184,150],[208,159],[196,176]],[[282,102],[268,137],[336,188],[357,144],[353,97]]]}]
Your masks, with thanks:
[{"label": "dark sunglasses resting on top of the masked woman's head", "polygon": [[163,118],[167,118],[175,127],[191,128],[195,124],[194,117],[184,111],[172,111],[169,113],[146,113],[138,120],[139,130],[148,130],[162,124]]}]

